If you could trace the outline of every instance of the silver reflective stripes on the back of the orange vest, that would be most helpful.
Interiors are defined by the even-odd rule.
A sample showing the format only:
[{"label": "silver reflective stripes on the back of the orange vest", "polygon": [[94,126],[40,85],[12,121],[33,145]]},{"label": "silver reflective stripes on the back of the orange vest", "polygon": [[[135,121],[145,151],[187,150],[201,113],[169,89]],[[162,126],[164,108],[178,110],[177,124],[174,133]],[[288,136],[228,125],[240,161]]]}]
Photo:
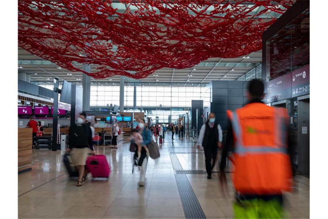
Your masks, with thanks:
[{"label": "silver reflective stripes on the back of the orange vest", "polygon": [[[287,154],[287,149],[284,145],[286,141],[286,124],[284,122],[283,117],[280,116],[279,109],[275,109],[275,123],[276,123],[276,133],[275,133],[275,143],[277,147],[270,147],[267,145],[252,145],[252,146],[244,146],[244,143],[242,141],[242,129],[240,120],[238,117],[238,114],[236,111],[232,112],[233,119],[231,120],[232,127],[234,129],[234,133],[236,135],[236,147],[235,147],[235,153],[239,156],[246,155],[247,153],[284,153]],[[282,133],[282,134],[280,134]],[[278,142],[282,142],[282,145]]]}]

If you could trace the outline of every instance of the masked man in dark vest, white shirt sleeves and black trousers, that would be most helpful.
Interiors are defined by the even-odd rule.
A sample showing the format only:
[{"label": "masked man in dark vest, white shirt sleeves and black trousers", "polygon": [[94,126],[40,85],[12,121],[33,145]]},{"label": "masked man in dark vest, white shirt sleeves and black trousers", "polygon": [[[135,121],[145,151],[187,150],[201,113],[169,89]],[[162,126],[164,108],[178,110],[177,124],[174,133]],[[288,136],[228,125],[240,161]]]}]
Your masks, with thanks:
[{"label": "masked man in dark vest, white shirt sleeves and black trousers", "polygon": [[[208,120],[202,125],[198,136],[198,148],[204,147],[207,179],[212,179],[212,170],[215,166],[217,149],[221,147],[222,129],[215,121],[215,114],[210,113]],[[212,163],[213,159],[213,163]]]}]

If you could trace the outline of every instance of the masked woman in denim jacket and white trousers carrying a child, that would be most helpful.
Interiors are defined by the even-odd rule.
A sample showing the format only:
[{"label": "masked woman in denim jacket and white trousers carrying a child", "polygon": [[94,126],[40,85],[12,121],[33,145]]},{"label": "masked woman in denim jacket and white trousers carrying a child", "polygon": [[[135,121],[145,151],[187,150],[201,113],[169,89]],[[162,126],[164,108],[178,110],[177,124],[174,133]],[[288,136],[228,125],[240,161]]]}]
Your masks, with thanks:
[{"label": "masked woman in denim jacket and white trousers carrying a child", "polygon": [[152,142],[152,134],[151,131],[146,128],[144,119],[139,119],[139,133],[142,136],[142,148],[141,156],[138,161],[138,166],[140,168],[140,179],[138,182],[138,186],[145,186],[147,162],[149,158],[149,151],[147,145]]}]

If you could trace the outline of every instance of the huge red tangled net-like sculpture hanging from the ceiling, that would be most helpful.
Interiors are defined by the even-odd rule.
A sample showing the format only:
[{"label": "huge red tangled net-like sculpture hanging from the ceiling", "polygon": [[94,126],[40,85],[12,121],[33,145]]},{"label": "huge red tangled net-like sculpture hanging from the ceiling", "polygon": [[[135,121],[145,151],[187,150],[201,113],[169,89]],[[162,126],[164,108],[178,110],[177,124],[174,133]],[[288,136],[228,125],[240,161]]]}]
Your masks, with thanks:
[{"label": "huge red tangled net-like sculpture hanging from the ceiling", "polygon": [[94,78],[140,79],[163,67],[189,68],[210,57],[258,51],[263,31],[275,22],[269,12],[282,14],[293,3],[19,0],[18,45],[70,71],[81,71],[72,61],[97,65],[98,72],[83,72]]}]

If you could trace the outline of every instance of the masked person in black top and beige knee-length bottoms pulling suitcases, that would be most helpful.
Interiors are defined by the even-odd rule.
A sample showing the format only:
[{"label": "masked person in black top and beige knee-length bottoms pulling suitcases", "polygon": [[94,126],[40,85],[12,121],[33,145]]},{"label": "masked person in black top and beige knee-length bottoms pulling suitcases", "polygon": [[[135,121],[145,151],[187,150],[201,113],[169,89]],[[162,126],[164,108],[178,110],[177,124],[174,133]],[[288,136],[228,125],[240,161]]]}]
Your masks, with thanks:
[{"label": "masked person in black top and beige knee-length bottoms pulling suitcases", "polygon": [[69,131],[69,148],[67,152],[72,152],[72,161],[77,166],[79,178],[76,186],[82,186],[82,182],[86,179],[85,165],[88,153],[94,153],[92,146],[92,133],[88,124],[85,123],[86,114],[80,113],[77,122]]}]

